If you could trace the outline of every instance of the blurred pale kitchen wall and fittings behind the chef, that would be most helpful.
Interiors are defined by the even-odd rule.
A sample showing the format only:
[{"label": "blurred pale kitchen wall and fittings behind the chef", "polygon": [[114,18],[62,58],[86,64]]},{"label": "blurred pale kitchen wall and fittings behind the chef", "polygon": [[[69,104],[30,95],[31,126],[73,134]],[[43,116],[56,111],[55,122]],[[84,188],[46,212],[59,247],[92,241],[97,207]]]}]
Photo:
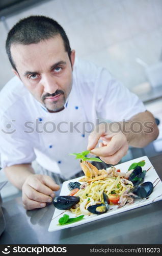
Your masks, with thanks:
[{"label": "blurred pale kitchen wall and fittings behind the chef", "polygon": [[[160,130],[158,139],[142,149],[129,148],[121,162],[161,154],[162,1],[1,0],[0,90],[13,77],[5,52],[7,33],[20,18],[29,15],[56,19],[65,29],[77,57],[109,69],[154,114]],[[1,170],[0,190],[6,180]],[[9,182],[1,191],[3,200],[19,193]]]}]

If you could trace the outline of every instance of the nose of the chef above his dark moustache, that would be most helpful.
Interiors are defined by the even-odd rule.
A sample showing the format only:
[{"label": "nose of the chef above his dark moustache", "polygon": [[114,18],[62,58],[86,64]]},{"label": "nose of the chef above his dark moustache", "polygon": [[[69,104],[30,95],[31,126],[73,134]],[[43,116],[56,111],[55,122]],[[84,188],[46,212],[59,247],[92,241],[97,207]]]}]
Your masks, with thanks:
[{"label": "nose of the chef above his dark moustache", "polygon": [[46,75],[43,77],[42,84],[44,87],[44,92],[49,94],[55,93],[59,88],[57,80],[50,75]]}]

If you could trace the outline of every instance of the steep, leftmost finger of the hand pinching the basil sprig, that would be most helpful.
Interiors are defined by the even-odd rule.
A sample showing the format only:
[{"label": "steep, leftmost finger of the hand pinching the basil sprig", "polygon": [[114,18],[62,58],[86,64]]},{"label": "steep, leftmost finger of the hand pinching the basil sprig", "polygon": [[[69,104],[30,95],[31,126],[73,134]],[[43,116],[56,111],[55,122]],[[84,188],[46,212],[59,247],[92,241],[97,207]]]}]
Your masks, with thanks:
[{"label": "steep, leftmost finger of the hand pinching the basil sprig", "polygon": [[88,146],[87,150],[92,150],[98,143],[98,140],[105,133],[106,127],[105,124],[97,125],[95,130],[88,137]]}]

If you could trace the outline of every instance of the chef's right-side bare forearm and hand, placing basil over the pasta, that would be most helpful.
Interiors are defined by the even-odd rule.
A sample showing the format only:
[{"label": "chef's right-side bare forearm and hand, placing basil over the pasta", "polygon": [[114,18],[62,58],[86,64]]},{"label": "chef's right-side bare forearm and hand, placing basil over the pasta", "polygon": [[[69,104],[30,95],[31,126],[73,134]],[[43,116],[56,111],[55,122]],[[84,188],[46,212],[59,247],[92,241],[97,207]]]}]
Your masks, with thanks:
[{"label": "chef's right-side bare forearm and hand, placing basil over the pasta", "polygon": [[[155,140],[158,134],[153,115],[145,111],[132,116],[128,121],[97,125],[89,136],[87,150],[99,156],[105,163],[117,164],[126,155],[128,145],[145,147]],[[100,139],[102,142],[95,148]]]}]

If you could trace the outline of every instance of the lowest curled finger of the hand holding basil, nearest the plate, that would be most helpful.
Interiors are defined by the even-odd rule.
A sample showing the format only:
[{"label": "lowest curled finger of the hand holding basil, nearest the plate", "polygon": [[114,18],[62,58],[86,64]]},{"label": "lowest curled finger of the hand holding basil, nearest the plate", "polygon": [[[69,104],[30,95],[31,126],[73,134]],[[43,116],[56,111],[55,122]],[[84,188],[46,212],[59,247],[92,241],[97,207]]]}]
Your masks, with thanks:
[{"label": "lowest curled finger of the hand holding basil, nearest the plate", "polygon": [[119,161],[122,159],[123,156],[126,155],[128,151],[128,144],[125,143],[119,151],[117,151],[114,155],[112,156],[106,156],[106,157],[100,157],[100,159],[105,162],[105,163],[108,163],[108,164],[117,164],[119,163]]}]

